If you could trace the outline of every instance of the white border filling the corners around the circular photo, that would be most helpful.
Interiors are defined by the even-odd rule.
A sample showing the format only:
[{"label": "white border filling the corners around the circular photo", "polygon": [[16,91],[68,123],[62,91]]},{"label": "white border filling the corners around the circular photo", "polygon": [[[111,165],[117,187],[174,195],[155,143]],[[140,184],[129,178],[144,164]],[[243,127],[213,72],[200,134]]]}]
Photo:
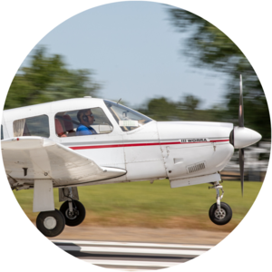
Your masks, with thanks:
[{"label": "white border filling the corners around the circular photo", "polygon": [[[55,26],[93,6],[113,1],[72,1],[72,0],[13,0],[1,3],[0,25],[0,86],[2,106],[9,85],[24,61],[45,34]],[[271,104],[270,81],[271,57],[271,15],[269,1],[245,0],[195,0],[157,1],[180,6],[208,19],[239,46],[254,66]],[[2,159],[1,159],[2,160]],[[1,267],[12,271],[100,271],[100,267],[90,267],[76,258],[63,253],[44,238],[25,217],[15,201],[5,180],[3,164],[1,180]],[[182,267],[169,270],[180,271],[257,271],[270,267],[271,211],[269,189],[271,191],[270,169],[267,179],[248,215],[228,238],[208,253]],[[228,193],[228,192],[226,192]],[[197,198],[197,196],[196,196]],[[4,200],[4,201],[3,201]],[[242,201],[242,199],[241,199]],[[16,212],[11,212],[15,210]],[[267,248],[266,248],[267,246]],[[9,267],[9,268],[7,268]]]}]

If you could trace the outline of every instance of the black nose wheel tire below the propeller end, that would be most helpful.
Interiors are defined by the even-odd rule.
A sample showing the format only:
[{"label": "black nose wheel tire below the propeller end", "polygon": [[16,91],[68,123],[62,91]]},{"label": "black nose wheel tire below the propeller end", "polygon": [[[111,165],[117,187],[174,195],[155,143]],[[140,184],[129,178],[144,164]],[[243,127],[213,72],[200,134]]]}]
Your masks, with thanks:
[{"label": "black nose wheel tire below the propeller end", "polygon": [[209,219],[216,225],[226,225],[232,218],[232,210],[225,202],[220,203],[220,209],[222,209],[221,215],[217,203],[214,203],[209,209]]}]

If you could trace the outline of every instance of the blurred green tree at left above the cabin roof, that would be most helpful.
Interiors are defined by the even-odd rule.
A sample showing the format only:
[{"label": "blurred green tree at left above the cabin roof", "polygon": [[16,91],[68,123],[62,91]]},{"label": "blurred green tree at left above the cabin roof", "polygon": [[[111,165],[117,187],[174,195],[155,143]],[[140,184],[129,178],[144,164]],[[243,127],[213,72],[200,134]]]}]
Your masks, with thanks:
[{"label": "blurred green tree at left above the cabin roof", "polygon": [[29,67],[16,73],[5,109],[94,95],[100,88],[89,70],[69,70],[59,54],[48,56],[44,47],[34,51]]}]

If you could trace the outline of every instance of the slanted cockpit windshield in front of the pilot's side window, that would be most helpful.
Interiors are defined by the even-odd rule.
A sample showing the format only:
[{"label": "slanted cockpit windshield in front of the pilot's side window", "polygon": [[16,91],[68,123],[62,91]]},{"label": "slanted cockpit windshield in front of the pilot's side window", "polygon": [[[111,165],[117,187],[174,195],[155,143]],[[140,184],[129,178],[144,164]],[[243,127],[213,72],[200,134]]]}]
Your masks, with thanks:
[{"label": "slanted cockpit windshield in front of the pilot's side window", "polygon": [[104,100],[113,118],[120,125],[122,131],[133,131],[142,125],[152,121],[151,118],[118,104]]}]

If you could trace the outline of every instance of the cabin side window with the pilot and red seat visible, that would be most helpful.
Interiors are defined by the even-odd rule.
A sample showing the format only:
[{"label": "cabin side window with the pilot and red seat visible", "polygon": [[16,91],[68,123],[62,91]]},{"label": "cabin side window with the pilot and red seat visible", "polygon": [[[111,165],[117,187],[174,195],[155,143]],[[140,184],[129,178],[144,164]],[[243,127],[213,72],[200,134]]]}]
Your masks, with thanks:
[{"label": "cabin side window with the pilot and red seat visible", "polygon": [[111,133],[112,123],[101,108],[58,112],[54,116],[58,137],[86,136]]}]

